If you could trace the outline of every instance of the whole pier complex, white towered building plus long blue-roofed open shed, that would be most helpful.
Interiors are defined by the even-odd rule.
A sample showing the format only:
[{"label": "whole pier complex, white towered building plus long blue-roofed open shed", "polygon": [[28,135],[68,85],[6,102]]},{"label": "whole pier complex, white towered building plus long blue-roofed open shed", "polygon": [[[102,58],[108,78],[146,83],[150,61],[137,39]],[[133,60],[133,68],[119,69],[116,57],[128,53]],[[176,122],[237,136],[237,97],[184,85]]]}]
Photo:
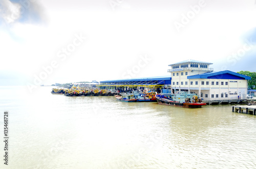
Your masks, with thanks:
[{"label": "whole pier complex, white towered building plus long blue-roofed open shed", "polygon": [[[173,63],[167,71],[170,76],[107,80],[101,89],[156,88],[162,93],[194,92],[206,102],[233,102],[246,99],[248,80],[251,78],[230,70],[214,71],[212,63],[185,60]],[[159,90],[158,90],[159,91]]]}]

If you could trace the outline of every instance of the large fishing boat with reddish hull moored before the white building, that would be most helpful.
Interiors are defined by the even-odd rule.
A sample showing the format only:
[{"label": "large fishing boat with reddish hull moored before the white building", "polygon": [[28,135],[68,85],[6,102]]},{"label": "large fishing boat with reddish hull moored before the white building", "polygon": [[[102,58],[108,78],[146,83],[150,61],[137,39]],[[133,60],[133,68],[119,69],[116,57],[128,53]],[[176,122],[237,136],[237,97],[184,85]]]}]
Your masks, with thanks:
[{"label": "large fishing boat with reddish hull moored before the white building", "polygon": [[177,94],[170,94],[169,96],[157,94],[156,99],[158,104],[168,106],[201,108],[206,105],[206,103],[203,103],[197,94],[190,94],[188,92],[179,92]]}]

